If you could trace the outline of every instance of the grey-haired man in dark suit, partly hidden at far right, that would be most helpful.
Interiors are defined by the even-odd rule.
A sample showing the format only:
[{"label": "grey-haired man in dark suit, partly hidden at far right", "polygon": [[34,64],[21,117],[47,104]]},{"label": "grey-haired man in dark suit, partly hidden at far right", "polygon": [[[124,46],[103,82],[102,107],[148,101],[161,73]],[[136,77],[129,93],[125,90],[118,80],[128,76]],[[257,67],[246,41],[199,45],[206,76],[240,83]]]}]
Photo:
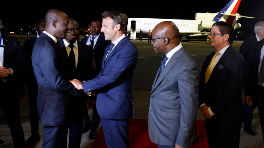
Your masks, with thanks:
[{"label": "grey-haired man in dark suit, partly hidden at far right", "polygon": [[[240,46],[239,53],[243,55],[243,57],[247,60],[248,67],[250,67],[251,61],[253,59],[255,45],[258,41],[264,38],[264,22],[258,22],[255,24],[254,32],[256,33],[254,36],[249,37],[245,40]],[[244,86],[245,91],[245,86]],[[246,119],[243,122],[244,131],[246,131],[250,135],[256,135],[257,133],[252,129],[252,118],[253,118],[253,110],[257,107],[257,103],[253,103],[253,100],[245,98],[244,102],[244,110],[246,113]]]}]

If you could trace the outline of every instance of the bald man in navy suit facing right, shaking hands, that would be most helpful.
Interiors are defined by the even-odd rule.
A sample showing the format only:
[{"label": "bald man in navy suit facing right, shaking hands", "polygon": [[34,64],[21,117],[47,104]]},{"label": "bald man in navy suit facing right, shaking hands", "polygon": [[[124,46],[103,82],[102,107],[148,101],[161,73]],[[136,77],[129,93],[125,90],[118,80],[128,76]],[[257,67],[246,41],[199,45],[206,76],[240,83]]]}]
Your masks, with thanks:
[{"label": "bald man in navy suit facing right, shaking hands", "polygon": [[45,15],[46,28],[35,42],[32,66],[38,82],[37,107],[43,126],[43,148],[67,147],[71,95],[80,96],[82,91],[69,82],[67,59],[59,39],[68,33],[68,16],[51,9]]}]

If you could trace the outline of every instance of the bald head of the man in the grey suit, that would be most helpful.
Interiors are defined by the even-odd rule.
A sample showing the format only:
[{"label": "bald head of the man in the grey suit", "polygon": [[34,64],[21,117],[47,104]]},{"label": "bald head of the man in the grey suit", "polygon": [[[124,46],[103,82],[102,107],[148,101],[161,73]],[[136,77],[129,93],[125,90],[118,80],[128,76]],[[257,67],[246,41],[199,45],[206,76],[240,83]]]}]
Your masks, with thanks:
[{"label": "bald head of the man in the grey suit", "polygon": [[167,54],[180,44],[180,32],[173,22],[164,21],[153,29],[152,39],[154,39],[152,45],[156,53]]}]

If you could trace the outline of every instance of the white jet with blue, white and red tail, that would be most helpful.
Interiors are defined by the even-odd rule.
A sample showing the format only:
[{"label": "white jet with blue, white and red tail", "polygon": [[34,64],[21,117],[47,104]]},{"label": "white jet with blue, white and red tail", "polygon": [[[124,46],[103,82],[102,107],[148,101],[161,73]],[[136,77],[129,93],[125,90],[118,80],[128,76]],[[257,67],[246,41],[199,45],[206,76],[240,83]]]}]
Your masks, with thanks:
[{"label": "white jet with blue, white and red tail", "polygon": [[151,30],[160,22],[172,21],[180,30],[181,40],[187,40],[189,36],[205,35],[208,32],[207,29],[212,28],[212,24],[217,21],[225,21],[232,24],[234,29],[240,28],[241,24],[237,23],[240,17],[254,18],[248,16],[239,15],[237,12],[241,0],[231,0],[221,11],[217,13],[196,13],[195,20],[177,20],[177,19],[153,19],[153,18],[129,18],[128,30],[130,33],[130,39],[136,39],[136,33],[139,33],[140,29],[143,33],[148,34]]}]

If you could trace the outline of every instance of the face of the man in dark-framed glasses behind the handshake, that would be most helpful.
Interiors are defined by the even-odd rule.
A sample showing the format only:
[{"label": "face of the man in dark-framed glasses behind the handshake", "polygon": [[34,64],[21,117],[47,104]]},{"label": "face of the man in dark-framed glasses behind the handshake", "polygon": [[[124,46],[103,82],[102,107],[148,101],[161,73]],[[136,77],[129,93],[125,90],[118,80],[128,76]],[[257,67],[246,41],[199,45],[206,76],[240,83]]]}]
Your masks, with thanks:
[{"label": "face of the man in dark-framed glasses behind the handshake", "polygon": [[75,33],[74,31],[74,28],[79,28],[79,24],[76,21],[69,19],[69,28],[72,28],[73,30],[70,33],[67,33],[65,40],[68,43],[73,44],[80,36],[80,32]]}]

